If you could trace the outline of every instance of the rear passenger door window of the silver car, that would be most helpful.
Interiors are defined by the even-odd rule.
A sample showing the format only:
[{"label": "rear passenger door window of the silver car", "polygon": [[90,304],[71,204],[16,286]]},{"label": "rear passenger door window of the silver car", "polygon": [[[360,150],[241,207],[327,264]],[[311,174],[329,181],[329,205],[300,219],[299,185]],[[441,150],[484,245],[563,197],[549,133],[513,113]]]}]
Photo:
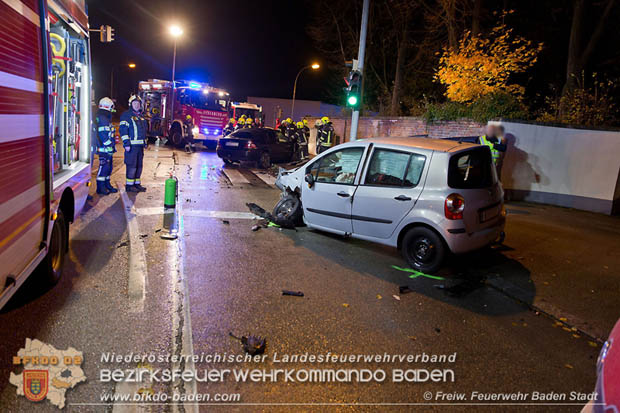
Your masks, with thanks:
[{"label": "rear passenger door window of the silver car", "polygon": [[365,185],[413,187],[420,181],[426,157],[409,152],[375,149]]}]

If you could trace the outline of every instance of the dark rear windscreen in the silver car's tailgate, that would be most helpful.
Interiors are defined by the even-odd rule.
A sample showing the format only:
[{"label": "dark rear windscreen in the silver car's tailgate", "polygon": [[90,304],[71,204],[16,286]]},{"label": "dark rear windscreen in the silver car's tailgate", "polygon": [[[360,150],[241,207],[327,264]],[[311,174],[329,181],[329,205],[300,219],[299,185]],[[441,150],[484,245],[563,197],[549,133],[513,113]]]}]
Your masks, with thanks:
[{"label": "dark rear windscreen in the silver car's tailgate", "polygon": [[455,189],[487,188],[493,185],[493,162],[488,147],[459,152],[450,158],[448,186]]}]

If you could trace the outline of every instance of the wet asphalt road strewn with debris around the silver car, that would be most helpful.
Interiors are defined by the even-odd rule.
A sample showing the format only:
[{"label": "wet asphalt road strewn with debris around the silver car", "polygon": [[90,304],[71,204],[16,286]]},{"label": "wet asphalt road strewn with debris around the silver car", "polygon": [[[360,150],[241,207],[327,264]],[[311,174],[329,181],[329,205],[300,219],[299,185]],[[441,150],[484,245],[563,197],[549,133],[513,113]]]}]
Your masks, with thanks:
[{"label": "wet asphalt road strewn with debris around the silver car", "polygon": [[[121,156],[115,158],[113,181],[122,184]],[[161,238],[167,232],[162,205],[170,173],[179,179],[176,240]],[[610,270],[620,261],[612,242],[620,231],[618,220],[509,205],[505,246],[452,259],[438,274],[443,279],[412,279],[392,268],[406,264],[391,248],[307,228],[252,231],[257,220],[246,203],[270,210],[279,191],[268,175],[251,167],[224,167],[213,152],[152,146],[142,180],[148,191],[128,194],[124,203],[120,194],[95,196],[72,226],[60,283],[42,290],[32,277],[0,312],[0,411],[57,411],[46,401],[33,406],[8,382],[10,372],[18,371],[12,357],[27,338],[84,353],[88,380],[67,391],[67,411],[578,412],[585,402],[551,405],[531,400],[531,394],[568,397],[594,388],[597,339],[620,316],[613,298],[620,283]],[[575,237],[579,225],[588,227],[579,232],[581,238]],[[599,246],[600,259],[587,252],[592,243]],[[405,285],[412,291],[399,294]],[[304,296],[283,296],[283,289]],[[229,375],[195,385],[100,380],[102,369],[138,366],[105,362],[102,353],[243,355],[241,343],[229,333],[265,337],[266,357],[146,367],[294,369],[294,374],[368,369],[387,377],[320,383],[302,373],[294,382],[284,376],[276,382],[243,382]],[[287,355],[328,353],[452,355],[455,360],[283,361]],[[399,369],[451,370],[453,376],[446,372],[447,382],[394,382],[392,374]],[[102,395],[140,388],[212,399],[200,406],[102,401]],[[466,399],[454,404],[440,392],[464,393]],[[472,392],[530,396],[520,402],[527,405],[498,405],[472,400]],[[230,401],[214,402],[214,397]],[[482,404],[463,404],[474,402]]]}]

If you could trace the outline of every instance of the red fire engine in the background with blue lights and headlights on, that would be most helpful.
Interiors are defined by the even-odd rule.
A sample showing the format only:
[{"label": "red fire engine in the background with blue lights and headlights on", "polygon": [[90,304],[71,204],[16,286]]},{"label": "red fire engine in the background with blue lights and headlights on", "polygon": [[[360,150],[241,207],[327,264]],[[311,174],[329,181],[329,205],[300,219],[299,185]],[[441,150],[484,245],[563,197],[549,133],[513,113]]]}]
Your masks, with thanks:
[{"label": "red fire engine in the background with blue lights and headlights on", "polygon": [[139,83],[149,121],[148,137],[167,138],[175,146],[198,140],[215,146],[228,122],[229,93],[206,83],[183,80],[175,83],[174,105],[170,104],[172,82],[149,79]]}]

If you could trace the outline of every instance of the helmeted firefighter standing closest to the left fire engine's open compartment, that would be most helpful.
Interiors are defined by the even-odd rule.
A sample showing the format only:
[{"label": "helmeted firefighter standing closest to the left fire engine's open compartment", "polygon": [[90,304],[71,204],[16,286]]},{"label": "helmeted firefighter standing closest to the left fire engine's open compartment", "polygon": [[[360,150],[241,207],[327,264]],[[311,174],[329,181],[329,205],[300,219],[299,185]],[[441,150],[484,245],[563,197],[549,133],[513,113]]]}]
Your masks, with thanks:
[{"label": "helmeted firefighter standing closest to the left fire engine's open compartment", "polygon": [[112,174],[112,154],[116,152],[114,146],[114,127],[111,125],[112,113],[115,112],[114,101],[105,97],[99,101],[97,110],[97,155],[99,156],[99,170],[97,171],[97,193],[108,195],[118,192],[110,183]]}]

